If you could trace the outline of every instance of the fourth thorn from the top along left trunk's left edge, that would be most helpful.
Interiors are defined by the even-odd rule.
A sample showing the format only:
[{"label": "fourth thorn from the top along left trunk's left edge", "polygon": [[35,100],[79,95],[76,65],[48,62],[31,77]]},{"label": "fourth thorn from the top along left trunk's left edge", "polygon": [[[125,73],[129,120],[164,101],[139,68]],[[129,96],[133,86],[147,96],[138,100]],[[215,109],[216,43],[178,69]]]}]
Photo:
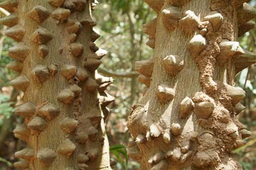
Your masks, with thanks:
[{"label": "fourth thorn from the top along left trunk's left edge", "polygon": [[9,57],[14,58],[20,62],[23,62],[29,55],[29,48],[23,43],[16,44],[9,48]]}]

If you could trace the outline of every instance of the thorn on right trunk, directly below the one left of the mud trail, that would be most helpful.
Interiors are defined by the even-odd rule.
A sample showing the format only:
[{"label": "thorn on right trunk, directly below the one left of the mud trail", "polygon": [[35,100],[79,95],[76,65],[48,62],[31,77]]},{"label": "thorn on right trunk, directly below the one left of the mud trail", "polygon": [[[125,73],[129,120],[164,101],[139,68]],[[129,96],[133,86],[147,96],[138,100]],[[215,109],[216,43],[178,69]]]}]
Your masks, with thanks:
[{"label": "thorn on right trunk, directly below the one left of the mud trail", "polygon": [[166,84],[161,84],[157,88],[157,97],[163,103],[171,101],[175,96],[175,90]]}]

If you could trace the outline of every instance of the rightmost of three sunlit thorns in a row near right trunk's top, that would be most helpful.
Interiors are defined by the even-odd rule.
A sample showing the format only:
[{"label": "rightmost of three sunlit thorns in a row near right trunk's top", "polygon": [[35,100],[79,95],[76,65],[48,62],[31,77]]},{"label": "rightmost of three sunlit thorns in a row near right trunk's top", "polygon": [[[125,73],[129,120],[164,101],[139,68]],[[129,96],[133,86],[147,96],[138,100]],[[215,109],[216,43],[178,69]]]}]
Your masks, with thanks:
[{"label": "rightmost of three sunlit thorns in a row near right trunk's top", "polygon": [[223,16],[217,11],[211,11],[207,16],[203,17],[203,21],[209,21],[213,26],[213,30],[217,31],[223,22]]}]

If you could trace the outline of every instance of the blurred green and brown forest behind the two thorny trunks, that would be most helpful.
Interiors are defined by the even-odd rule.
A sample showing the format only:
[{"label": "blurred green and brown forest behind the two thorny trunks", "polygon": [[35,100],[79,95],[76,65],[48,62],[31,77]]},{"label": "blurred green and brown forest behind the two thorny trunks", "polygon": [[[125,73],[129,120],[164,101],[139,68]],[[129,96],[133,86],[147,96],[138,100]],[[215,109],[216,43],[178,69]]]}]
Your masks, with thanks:
[{"label": "blurred green and brown forest behind the two thorny trunks", "polygon": [[[255,7],[256,0],[251,1]],[[1,17],[7,13],[0,10]],[[153,50],[146,45],[147,35],[143,34],[142,25],[156,16],[141,0],[101,0],[93,11],[97,21],[97,31],[101,38],[97,46],[108,50],[107,56],[98,71],[104,76],[112,76],[114,81],[108,91],[115,96],[115,102],[110,106],[106,126],[110,142],[111,160],[114,169],[139,169],[139,163],[129,159],[126,151],[130,135],[127,129],[127,117],[132,106],[139,102],[145,85],[137,80],[134,63],[153,56]],[[14,169],[16,160],[13,153],[25,147],[25,143],[13,136],[13,129],[23,120],[15,115],[14,106],[21,100],[21,92],[9,86],[9,80],[17,76],[8,70],[6,65],[12,61],[8,56],[8,48],[15,42],[5,37],[6,27],[0,27],[0,170]],[[255,29],[239,38],[241,46],[251,52],[256,52]],[[236,86],[247,93],[243,105],[246,106],[239,120],[252,132],[247,138],[247,144],[233,151],[245,170],[256,169],[256,65],[245,68],[237,74]]]}]

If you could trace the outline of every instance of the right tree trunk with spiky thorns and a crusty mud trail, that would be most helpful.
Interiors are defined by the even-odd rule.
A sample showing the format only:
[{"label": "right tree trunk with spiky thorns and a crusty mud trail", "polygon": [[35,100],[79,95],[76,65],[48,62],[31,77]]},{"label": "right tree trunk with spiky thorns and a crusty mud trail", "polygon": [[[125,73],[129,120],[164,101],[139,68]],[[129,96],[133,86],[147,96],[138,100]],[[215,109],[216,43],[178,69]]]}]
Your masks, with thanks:
[{"label": "right tree trunk with spiky thorns and a crusty mud trail", "polygon": [[236,39],[255,10],[240,0],[145,2],[157,12],[143,29],[155,54],[135,63],[149,89],[129,116],[129,156],[141,169],[242,169],[231,151],[251,133],[237,120],[245,92],[234,77],[256,60]]}]

